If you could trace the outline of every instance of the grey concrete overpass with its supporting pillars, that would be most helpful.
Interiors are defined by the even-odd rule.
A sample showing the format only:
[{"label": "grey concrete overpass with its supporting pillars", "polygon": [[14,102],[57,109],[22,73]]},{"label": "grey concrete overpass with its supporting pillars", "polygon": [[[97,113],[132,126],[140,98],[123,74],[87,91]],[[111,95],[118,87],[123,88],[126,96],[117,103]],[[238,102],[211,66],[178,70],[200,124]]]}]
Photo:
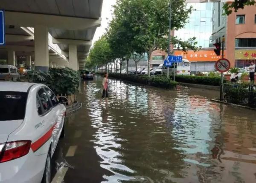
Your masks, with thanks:
[{"label": "grey concrete overpass with its supporting pillars", "polygon": [[6,45],[0,59],[35,70],[84,68],[102,0],[1,0],[5,10]]}]

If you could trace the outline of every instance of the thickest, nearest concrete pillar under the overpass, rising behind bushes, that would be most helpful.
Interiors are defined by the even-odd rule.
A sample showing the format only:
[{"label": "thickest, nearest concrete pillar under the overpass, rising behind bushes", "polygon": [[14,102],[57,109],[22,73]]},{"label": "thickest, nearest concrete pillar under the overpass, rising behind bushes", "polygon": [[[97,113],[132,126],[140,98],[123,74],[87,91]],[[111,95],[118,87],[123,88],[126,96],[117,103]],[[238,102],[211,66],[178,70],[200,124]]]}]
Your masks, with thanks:
[{"label": "thickest, nearest concrete pillar under the overpass, rising behind bushes", "polygon": [[49,69],[48,28],[35,26],[35,70],[47,72]]}]

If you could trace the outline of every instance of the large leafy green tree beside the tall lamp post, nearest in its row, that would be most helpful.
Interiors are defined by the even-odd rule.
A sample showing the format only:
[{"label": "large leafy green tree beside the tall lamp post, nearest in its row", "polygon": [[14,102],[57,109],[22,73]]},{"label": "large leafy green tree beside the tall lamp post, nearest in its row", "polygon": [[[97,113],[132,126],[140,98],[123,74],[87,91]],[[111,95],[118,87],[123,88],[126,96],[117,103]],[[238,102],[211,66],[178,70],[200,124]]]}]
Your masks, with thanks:
[{"label": "large leafy green tree beside the tall lamp post, nearest in its row", "polygon": [[[148,53],[148,75],[152,52],[156,49],[168,49],[169,3],[170,0],[117,0],[115,6],[114,15],[125,17],[125,32],[132,35],[130,45],[137,47],[136,50],[133,49],[133,53]],[[186,0],[172,0],[171,29],[183,28],[191,11],[192,7],[187,8]],[[171,42],[184,51],[188,48],[198,49],[195,38],[183,42],[172,37]]]}]

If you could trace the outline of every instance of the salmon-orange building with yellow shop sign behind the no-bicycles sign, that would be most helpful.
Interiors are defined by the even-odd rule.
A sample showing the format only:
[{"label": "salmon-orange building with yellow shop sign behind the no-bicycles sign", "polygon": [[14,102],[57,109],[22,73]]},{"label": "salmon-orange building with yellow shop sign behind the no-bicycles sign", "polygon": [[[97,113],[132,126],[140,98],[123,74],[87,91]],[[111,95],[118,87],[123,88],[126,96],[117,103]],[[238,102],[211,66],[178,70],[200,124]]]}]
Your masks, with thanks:
[{"label": "salmon-orange building with yellow shop sign behind the no-bicycles sign", "polygon": [[256,63],[256,6],[245,6],[227,17],[226,44],[232,67]]}]

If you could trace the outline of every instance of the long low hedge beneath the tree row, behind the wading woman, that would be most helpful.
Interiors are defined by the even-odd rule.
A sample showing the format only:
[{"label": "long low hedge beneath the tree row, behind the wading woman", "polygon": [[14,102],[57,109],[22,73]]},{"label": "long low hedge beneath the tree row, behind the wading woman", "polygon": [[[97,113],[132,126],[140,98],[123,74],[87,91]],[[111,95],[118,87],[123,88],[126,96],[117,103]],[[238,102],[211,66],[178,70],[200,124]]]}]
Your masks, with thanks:
[{"label": "long low hedge beneath the tree row, behind the wading woman", "polygon": [[[104,73],[99,73],[103,75]],[[122,79],[130,82],[137,82],[140,84],[147,84],[154,87],[162,87],[167,89],[176,89],[177,82],[172,81],[171,79],[167,79],[161,76],[136,76],[136,75],[127,75],[127,74],[119,74],[119,73],[109,73],[109,77]]]}]

